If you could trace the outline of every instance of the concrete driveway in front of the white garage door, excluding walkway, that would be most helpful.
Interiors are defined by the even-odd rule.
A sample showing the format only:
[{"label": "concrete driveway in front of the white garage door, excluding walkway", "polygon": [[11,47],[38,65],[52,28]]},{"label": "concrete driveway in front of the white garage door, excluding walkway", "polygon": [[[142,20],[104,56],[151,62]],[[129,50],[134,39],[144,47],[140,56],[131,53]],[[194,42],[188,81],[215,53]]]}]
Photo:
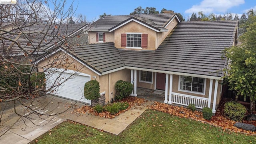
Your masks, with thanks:
[{"label": "concrete driveway in front of the white garage door, excluding walkway", "polygon": [[[20,118],[15,114],[13,104],[9,103],[5,108],[2,115],[2,121],[0,125],[0,135],[8,130],[10,126],[12,128],[8,130],[3,136],[0,137],[0,144],[27,144],[31,140],[34,140],[38,136],[44,134],[48,130],[54,128],[65,120],[66,115],[70,114],[70,109],[66,112],[70,106],[76,104],[72,100],[66,100],[56,96],[46,95],[40,98],[39,102],[36,102],[31,106],[34,110],[38,110],[42,115],[25,113],[22,106],[17,106],[17,111],[24,114],[28,114],[27,118]],[[84,105],[77,103],[77,105]],[[41,109],[43,108],[43,109]],[[2,114],[3,108],[0,109]],[[44,116],[43,114],[56,114],[64,112],[56,116]],[[60,117],[61,118],[60,118]]]}]

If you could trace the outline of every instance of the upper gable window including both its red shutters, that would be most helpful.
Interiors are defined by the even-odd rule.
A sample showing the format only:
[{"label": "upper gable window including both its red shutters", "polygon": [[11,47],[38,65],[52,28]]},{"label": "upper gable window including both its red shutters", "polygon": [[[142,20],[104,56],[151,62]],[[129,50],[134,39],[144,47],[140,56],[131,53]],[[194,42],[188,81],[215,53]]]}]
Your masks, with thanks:
[{"label": "upper gable window including both its red shutters", "polygon": [[129,33],[121,34],[121,47],[125,48],[148,48],[148,34]]}]

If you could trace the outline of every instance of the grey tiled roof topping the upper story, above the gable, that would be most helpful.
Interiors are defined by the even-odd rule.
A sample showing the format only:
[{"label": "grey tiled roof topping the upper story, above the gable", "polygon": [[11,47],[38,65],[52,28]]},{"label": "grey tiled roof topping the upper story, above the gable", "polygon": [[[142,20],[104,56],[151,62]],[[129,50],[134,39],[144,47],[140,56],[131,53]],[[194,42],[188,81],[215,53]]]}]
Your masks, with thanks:
[{"label": "grey tiled roof topping the upper story, above the gable", "polygon": [[[176,13],[169,14],[136,14],[123,16],[104,16],[94,22],[90,28],[92,31],[110,31],[129,20],[138,20],[143,24],[155,29],[164,29],[165,26],[176,16]],[[176,16],[176,18],[178,18]]]}]

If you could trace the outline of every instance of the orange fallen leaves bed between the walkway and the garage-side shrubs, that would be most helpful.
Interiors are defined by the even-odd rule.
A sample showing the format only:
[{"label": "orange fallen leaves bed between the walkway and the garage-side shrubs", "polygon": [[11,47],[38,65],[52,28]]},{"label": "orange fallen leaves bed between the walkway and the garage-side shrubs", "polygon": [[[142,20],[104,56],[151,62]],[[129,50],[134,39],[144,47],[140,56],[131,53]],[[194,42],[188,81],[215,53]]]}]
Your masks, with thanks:
[{"label": "orange fallen leaves bed between the walkway and the garage-side shrubs", "polygon": [[92,106],[81,106],[79,108],[75,108],[74,111],[71,113],[82,113],[82,114],[90,113],[90,114],[94,114],[96,116],[112,119],[112,118],[118,116],[119,114],[122,114],[125,111],[129,110],[131,107],[140,106],[146,101],[147,100],[145,100],[143,98],[137,98],[137,97],[128,97],[128,98],[124,98],[123,100],[119,100],[118,102],[128,102],[129,106],[126,110],[120,110],[118,113],[116,113],[114,115],[110,114],[110,112],[107,112],[107,111],[98,113],[98,112],[94,111]]}]

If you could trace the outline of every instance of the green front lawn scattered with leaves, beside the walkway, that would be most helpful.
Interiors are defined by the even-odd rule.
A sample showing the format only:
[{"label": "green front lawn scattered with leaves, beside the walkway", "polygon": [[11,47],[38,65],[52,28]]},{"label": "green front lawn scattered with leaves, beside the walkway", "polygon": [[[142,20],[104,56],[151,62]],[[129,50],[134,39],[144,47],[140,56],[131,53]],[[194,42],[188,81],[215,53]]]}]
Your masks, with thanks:
[{"label": "green front lawn scattered with leaves, beside the walkway", "polygon": [[63,122],[36,140],[37,144],[248,144],[256,143],[256,136],[146,110],[118,136],[82,124]]}]

